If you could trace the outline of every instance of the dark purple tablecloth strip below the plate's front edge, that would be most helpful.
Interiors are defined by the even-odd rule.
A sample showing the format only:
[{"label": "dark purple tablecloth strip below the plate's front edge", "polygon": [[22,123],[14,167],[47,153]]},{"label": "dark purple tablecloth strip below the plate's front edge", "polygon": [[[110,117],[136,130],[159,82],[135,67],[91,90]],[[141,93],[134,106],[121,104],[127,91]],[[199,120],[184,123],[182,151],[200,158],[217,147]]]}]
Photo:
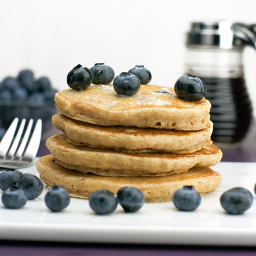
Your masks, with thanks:
[{"label": "dark purple tablecloth strip below the plate's front edge", "polygon": [[0,256],[255,256],[255,247],[1,242]]}]

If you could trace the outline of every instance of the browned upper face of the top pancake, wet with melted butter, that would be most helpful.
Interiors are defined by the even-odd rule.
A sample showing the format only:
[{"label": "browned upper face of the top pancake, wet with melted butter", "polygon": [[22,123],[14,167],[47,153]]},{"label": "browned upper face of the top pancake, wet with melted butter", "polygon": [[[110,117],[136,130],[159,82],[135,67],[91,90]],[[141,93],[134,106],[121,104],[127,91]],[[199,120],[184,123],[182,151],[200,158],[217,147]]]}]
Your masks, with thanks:
[{"label": "browned upper face of the top pancake, wet with melted butter", "polygon": [[138,93],[132,96],[118,95],[114,91],[113,85],[90,85],[86,90],[77,91],[69,88],[62,92],[71,98],[75,97],[73,99],[75,104],[79,100],[90,100],[91,103],[100,103],[102,108],[114,107],[117,111],[136,109],[142,106],[191,108],[201,104],[209,104],[205,99],[200,101],[181,100],[175,95],[173,88],[167,89],[156,85],[141,85]]}]

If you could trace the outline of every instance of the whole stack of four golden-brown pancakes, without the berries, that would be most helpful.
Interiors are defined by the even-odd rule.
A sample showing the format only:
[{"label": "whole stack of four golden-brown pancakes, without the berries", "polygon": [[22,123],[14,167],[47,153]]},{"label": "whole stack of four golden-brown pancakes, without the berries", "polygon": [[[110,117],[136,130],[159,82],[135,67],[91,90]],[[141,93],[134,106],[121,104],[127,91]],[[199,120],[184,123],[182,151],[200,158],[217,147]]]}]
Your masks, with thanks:
[{"label": "whole stack of four golden-brown pancakes, without the berries", "polygon": [[146,202],[161,202],[183,185],[204,195],[221,182],[209,167],[222,153],[211,141],[206,99],[185,101],[173,88],[155,85],[141,85],[132,96],[116,94],[113,85],[90,85],[58,92],[55,102],[61,114],[52,122],[63,133],[47,140],[52,155],[37,162],[49,187],[88,198],[97,189],[134,186]]}]

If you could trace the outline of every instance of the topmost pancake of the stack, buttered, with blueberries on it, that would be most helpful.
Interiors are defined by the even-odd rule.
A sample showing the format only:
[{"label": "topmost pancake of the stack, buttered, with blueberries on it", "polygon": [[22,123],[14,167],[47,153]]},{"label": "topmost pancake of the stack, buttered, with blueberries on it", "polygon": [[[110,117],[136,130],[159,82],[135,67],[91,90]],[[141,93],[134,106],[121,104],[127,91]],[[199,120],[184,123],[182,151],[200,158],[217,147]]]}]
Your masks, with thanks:
[{"label": "topmost pancake of the stack, buttered, with blueberries on it", "polygon": [[208,126],[211,104],[179,99],[173,88],[141,85],[132,96],[118,95],[113,85],[90,85],[58,92],[55,103],[61,114],[103,126],[135,126],[199,130]]}]

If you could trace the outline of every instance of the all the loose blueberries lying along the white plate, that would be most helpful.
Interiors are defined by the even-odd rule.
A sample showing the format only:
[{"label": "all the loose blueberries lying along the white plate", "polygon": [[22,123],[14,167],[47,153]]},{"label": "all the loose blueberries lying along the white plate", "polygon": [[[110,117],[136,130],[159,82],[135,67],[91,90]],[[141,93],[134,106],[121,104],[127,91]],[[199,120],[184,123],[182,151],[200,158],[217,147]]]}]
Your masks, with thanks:
[{"label": "all the loose blueberries lying along the white plate", "polygon": [[[6,208],[19,209],[28,199],[35,199],[43,191],[42,181],[33,174],[22,173],[15,169],[0,172],[0,189],[2,203]],[[254,186],[256,194],[256,184]],[[70,196],[62,186],[53,186],[44,198],[46,206],[54,212],[60,212],[70,203]],[[201,202],[199,193],[194,186],[185,185],[173,193],[174,206],[181,211],[194,211]],[[97,214],[114,212],[117,204],[125,212],[134,213],[141,209],[144,195],[141,190],[131,186],[119,189],[116,195],[106,189],[94,191],[89,197],[89,205]],[[253,204],[253,195],[242,187],[234,187],[224,192],[220,197],[220,204],[230,214],[242,214]]]}]

